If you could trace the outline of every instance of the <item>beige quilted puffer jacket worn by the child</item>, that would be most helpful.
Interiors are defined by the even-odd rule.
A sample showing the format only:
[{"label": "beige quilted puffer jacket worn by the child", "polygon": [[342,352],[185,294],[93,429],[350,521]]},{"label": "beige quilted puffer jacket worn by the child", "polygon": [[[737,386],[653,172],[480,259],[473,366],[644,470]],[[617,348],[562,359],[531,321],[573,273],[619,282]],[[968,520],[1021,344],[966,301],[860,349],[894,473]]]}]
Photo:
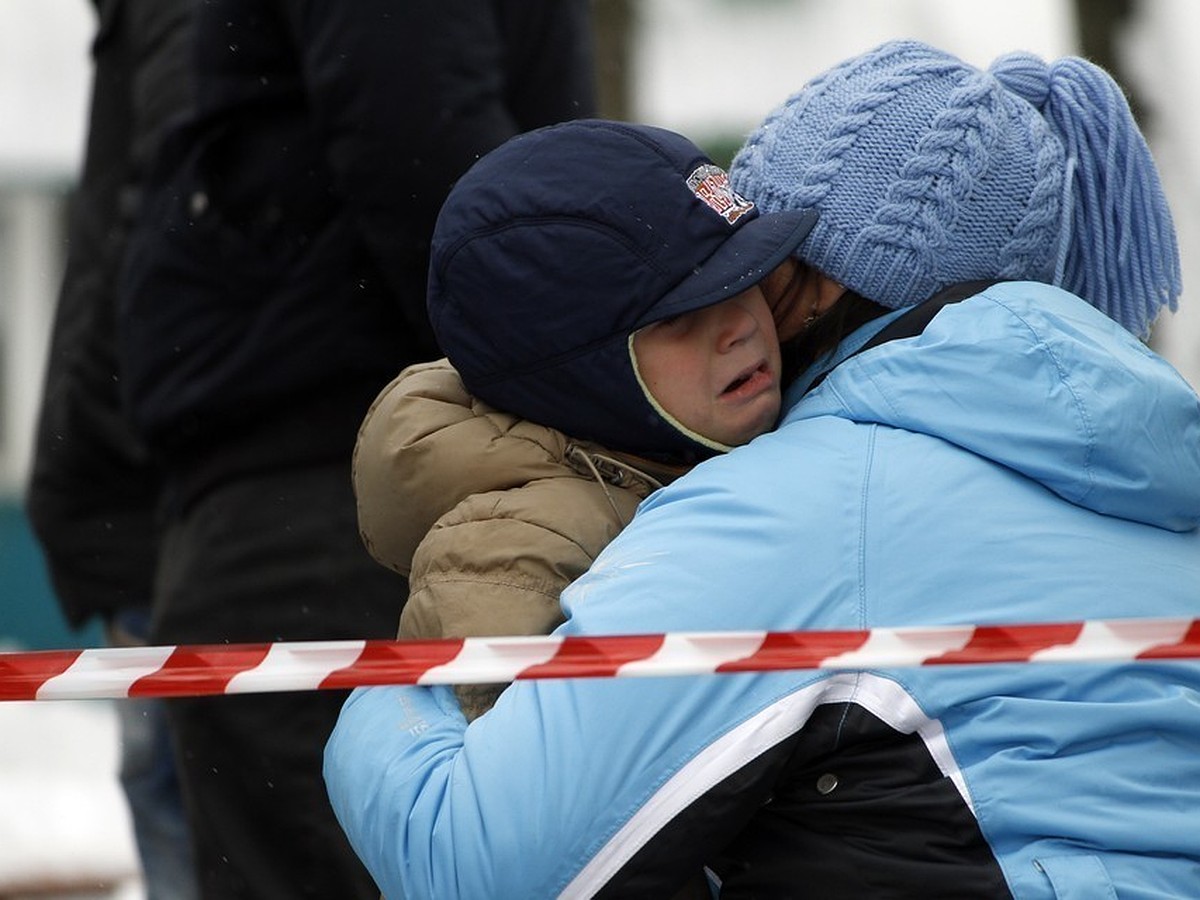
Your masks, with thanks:
[{"label": "beige quilted puffer jacket worn by the child", "polygon": [[400,636],[421,638],[553,630],[563,588],[684,470],[493,409],[446,360],[384,388],[354,451],[362,540],[408,576]]}]

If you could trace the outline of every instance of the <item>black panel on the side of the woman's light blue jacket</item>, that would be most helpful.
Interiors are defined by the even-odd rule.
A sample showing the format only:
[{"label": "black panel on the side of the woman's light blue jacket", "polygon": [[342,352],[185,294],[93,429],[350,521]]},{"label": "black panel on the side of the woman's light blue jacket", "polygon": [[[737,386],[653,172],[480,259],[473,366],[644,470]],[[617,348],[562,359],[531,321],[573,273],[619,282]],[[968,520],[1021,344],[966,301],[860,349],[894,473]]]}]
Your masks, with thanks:
[{"label": "black panel on the side of the woman's light blue jacket", "polygon": [[668,896],[658,878],[682,880],[700,859],[721,878],[721,900],[1010,896],[920,737],[853,703],[817,707],[802,732],[659,832],[599,896]]}]

